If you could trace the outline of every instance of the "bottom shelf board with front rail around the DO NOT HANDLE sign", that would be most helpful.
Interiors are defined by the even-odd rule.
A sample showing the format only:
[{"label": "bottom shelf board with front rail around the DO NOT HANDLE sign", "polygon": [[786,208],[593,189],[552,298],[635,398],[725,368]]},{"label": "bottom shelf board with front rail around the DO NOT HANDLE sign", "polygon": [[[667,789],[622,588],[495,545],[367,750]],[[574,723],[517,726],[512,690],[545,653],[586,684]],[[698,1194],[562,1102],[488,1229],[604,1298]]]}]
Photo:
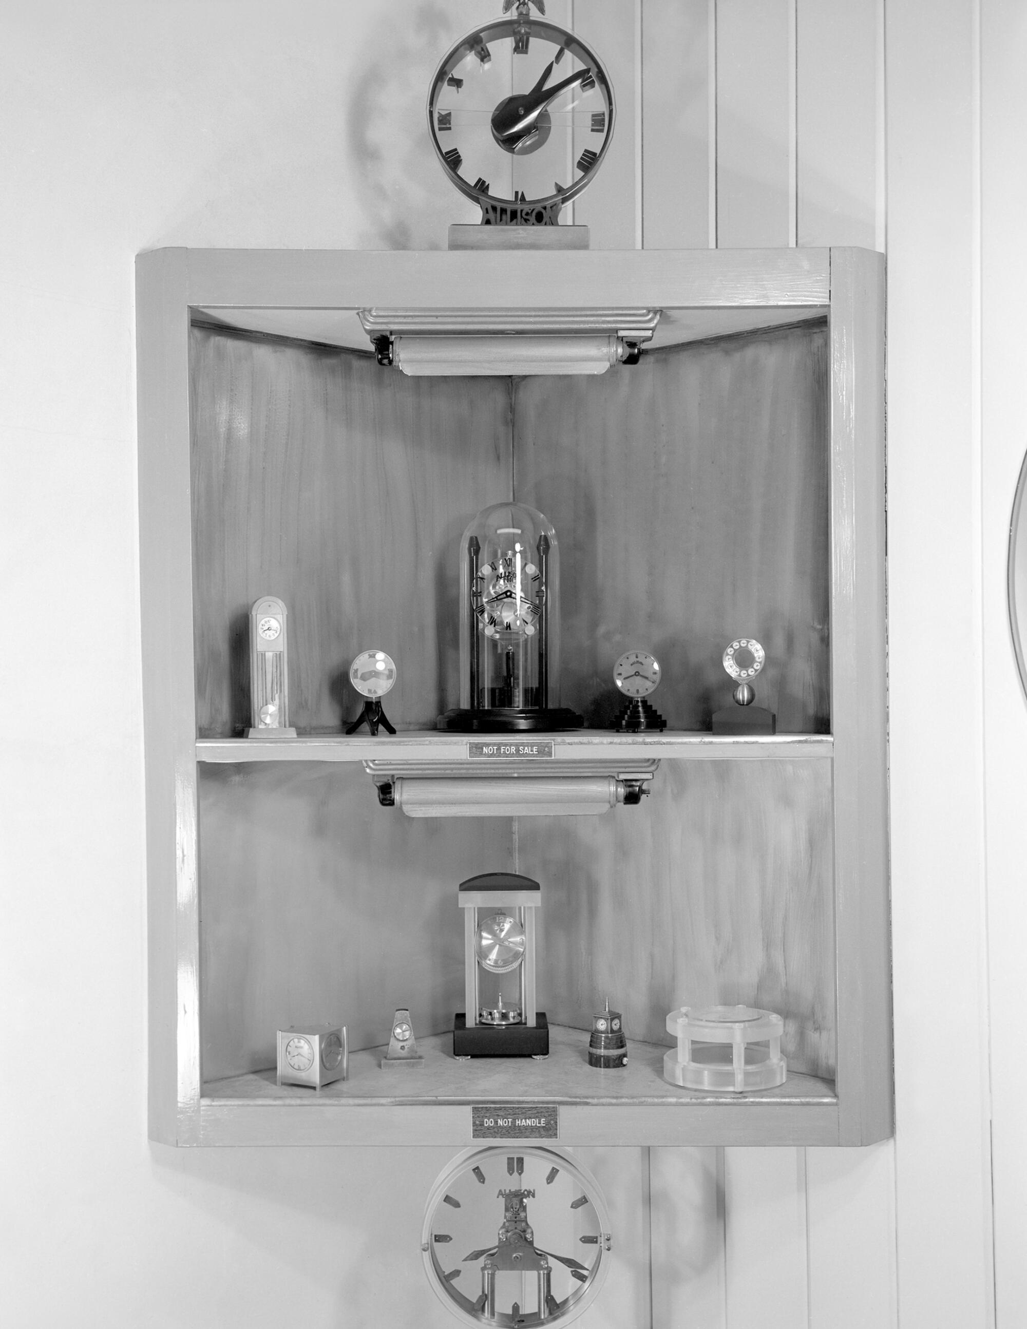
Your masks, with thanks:
[{"label": "bottom shelf board with front rail around the DO NOT HANDLE sign", "polygon": [[550,1025],[546,1061],[453,1057],[452,1034],[417,1041],[417,1070],[380,1069],[384,1047],[349,1057],[349,1079],[320,1091],[275,1083],[274,1069],[213,1080],[199,1144],[476,1143],[472,1104],[545,1103],[565,1144],[836,1144],[830,1080],[789,1074],[759,1094],[705,1094],[663,1078],[664,1045],[628,1041],[628,1065],[589,1066],[587,1033]]}]

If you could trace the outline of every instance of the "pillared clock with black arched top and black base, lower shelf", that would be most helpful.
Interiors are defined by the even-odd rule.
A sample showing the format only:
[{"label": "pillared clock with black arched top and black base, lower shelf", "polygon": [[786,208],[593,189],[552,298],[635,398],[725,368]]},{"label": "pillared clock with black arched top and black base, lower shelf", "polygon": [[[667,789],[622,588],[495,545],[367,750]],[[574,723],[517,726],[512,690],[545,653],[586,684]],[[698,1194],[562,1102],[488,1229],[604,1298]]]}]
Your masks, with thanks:
[{"label": "pillared clock with black arched top and black base, lower shelf", "polygon": [[465,1009],[454,1057],[547,1057],[549,1022],[535,1010],[535,909],[542,888],[515,872],[460,884]]}]

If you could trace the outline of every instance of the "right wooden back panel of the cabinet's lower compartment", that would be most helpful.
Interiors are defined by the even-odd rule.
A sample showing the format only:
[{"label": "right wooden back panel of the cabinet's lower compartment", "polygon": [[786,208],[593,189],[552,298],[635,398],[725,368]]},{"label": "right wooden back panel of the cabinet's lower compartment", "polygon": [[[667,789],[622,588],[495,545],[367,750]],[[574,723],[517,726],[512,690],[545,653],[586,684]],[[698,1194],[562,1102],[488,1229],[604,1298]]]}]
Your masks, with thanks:
[{"label": "right wooden back panel of the cabinet's lower compartment", "polygon": [[670,1045],[678,1006],[757,1006],[792,1070],[834,1078],[829,760],[663,762],[639,808],[521,817],[517,843],[550,1018],[589,1029],[608,998],[628,1037]]}]

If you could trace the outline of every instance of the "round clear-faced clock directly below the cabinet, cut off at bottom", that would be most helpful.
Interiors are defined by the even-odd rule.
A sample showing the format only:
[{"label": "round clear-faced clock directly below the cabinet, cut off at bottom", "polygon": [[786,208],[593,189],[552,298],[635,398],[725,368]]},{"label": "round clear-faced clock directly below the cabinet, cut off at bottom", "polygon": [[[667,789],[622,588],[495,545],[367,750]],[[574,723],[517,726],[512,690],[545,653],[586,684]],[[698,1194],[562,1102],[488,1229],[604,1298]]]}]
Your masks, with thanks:
[{"label": "round clear-faced clock directly below the cabinet, cut off at bottom", "polygon": [[468,1325],[569,1324],[610,1264],[595,1179],[555,1150],[468,1150],[428,1199],[421,1255],[438,1298]]}]

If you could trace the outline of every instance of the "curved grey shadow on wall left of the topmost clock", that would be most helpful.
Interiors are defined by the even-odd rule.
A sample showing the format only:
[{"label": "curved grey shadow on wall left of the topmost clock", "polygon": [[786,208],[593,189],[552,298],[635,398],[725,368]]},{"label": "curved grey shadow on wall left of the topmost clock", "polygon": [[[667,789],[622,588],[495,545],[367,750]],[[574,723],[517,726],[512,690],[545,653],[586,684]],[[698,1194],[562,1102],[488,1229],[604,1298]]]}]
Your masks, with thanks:
[{"label": "curved grey shadow on wall left of the topmost clock", "polygon": [[[496,7],[492,7],[493,9]],[[446,51],[482,17],[481,0],[450,0],[383,12],[373,47],[356,68],[347,129],[352,175],[373,229],[368,249],[445,249],[450,222],[480,213],[445,181],[428,133],[428,88]]]}]

